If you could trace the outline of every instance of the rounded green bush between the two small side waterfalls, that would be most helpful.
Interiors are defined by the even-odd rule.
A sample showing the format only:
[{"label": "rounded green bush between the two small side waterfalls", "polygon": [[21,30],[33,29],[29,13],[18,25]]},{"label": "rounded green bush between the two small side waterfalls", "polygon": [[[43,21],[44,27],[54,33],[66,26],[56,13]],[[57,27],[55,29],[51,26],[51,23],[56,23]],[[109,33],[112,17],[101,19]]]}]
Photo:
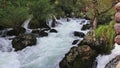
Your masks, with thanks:
[{"label": "rounded green bush between the two small side waterfalls", "polygon": [[35,1],[30,6],[30,13],[33,14],[39,22],[45,22],[53,13],[53,6],[50,4],[49,0]]}]

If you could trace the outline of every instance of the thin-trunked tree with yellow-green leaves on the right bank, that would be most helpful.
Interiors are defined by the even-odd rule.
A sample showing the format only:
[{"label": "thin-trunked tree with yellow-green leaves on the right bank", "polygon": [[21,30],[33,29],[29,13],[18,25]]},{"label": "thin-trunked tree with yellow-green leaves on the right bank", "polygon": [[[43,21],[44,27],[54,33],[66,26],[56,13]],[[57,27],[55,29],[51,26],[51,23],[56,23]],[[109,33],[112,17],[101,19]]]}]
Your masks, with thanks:
[{"label": "thin-trunked tree with yellow-green leaves on the right bank", "polygon": [[114,5],[114,0],[91,0],[90,8],[93,10],[93,29],[97,27],[98,17],[107,13]]}]

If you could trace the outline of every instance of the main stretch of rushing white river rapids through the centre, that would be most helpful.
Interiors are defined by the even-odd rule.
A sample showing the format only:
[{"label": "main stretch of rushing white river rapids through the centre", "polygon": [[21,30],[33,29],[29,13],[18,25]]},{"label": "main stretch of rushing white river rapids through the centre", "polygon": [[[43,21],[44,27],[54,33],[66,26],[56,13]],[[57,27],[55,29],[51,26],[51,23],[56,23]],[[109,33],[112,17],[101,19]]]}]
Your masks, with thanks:
[{"label": "main stretch of rushing white river rapids through the centre", "polygon": [[[35,46],[18,52],[0,51],[0,68],[59,68],[59,62],[73,46],[72,42],[82,39],[73,36],[73,32],[80,31],[86,34],[89,31],[80,30],[83,24],[89,23],[88,20],[70,20],[69,22],[66,22],[65,19],[57,20],[61,22],[54,28],[58,33],[49,33],[48,37],[37,38]],[[80,25],[81,21],[85,22]],[[1,39],[4,41],[1,42]],[[11,40],[0,38],[0,42],[0,45],[5,45],[5,47],[11,46]]]}]

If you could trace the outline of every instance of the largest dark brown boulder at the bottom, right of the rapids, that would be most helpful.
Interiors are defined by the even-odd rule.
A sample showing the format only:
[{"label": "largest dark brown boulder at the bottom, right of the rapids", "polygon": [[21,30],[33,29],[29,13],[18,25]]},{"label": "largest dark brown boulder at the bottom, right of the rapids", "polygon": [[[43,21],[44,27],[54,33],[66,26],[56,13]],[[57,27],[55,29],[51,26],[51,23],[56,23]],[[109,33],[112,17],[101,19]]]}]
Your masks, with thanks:
[{"label": "largest dark brown boulder at the bottom, right of the rapids", "polygon": [[72,47],[59,63],[60,68],[92,68],[95,51],[88,45]]}]

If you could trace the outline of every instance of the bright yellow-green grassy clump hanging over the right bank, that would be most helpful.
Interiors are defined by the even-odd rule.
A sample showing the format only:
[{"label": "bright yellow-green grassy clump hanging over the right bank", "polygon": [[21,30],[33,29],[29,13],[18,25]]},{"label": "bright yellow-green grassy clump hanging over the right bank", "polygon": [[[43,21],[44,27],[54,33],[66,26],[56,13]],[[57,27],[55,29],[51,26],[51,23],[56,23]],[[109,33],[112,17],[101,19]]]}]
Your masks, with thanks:
[{"label": "bright yellow-green grassy clump hanging over the right bank", "polygon": [[97,40],[103,40],[103,45],[100,45],[98,48],[103,52],[110,52],[114,47],[114,21],[111,21],[109,25],[100,25],[95,30],[95,36]]}]

